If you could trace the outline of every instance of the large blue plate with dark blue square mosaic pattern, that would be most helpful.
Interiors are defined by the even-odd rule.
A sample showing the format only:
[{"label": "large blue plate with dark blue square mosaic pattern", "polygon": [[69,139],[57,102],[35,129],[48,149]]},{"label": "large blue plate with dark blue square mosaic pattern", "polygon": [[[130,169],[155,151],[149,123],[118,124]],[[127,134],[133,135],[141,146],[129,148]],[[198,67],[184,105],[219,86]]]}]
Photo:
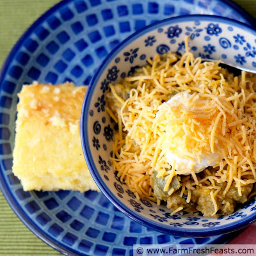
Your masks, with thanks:
[{"label": "large blue plate with dark blue square mosaic pattern", "polygon": [[89,84],[107,54],[138,29],[168,17],[204,13],[255,25],[248,13],[218,0],[64,0],[24,33],[0,76],[0,186],[13,211],[45,243],[67,255],[132,255],[132,244],[227,243],[236,234],[169,236],[118,211],[101,193],[25,192],[12,174],[17,93],[37,80]]}]

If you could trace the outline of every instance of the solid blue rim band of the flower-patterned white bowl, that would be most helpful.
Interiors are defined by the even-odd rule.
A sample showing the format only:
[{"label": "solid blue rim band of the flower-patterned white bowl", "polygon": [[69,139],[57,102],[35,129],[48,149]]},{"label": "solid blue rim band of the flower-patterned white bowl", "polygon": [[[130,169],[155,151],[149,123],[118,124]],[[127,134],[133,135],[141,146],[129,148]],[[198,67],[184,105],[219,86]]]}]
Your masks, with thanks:
[{"label": "solid blue rim band of the flower-patterned white bowl", "polygon": [[[119,200],[106,186],[103,179],[101,179],[99,172],[95,166],[95,163],[93,161],[92,152],[90,150],[90,143],[89,143],[89,129],[88,129],[88,117],[89,117],[89,111],[90,111],[90,103],[92,100],[92,95],[95,90],[95,87],[97,86],[97,83],[99,81],[100,75],[102,73],[102,70],[105,70],[106,67],[108,67],[108,64],[115,58],[115,56],[122,51],[127,45],[132,42],[132,40],[136,40],[136,38],[140,37],[141,35],[144,35],[145,33],[148,33],[152,30],[155,30],[159,28],[159,26],[167,26],[172,25],[174,22],[180,21],[191,21],[198,19],[200,21],[213,21],[213,22],[223,22],[226,24],[230,24],[231,26],[236,26],[238,28],[243,28],[246,31],[250,31],[253,35],[256,36],[256,30],[252,27],[239,22],[237,20],[228,19],[225,17],[220,17],[216,15],[182,15],[179,17],[172,17],[164,20],[160,20],[154,24],[150,24],[146,26],[145,28],[139,29],[132,35],[128,36],[124,41],[122,41],[120,44],[118,44],[109,54],[106,56],[104,61],[102,61],[100,67],[98,68],[97,72],[95,72],[94,76],[92,77],[92,80],[88,86],[88,89],[86,91],[86,95],[84,96],[83,100],[83,106],[81,111],[81,120],[80,120],[80,133],[81,133],[81,144],[83,148],[83,154],[84,158],[86,159],[86,164],[88,165],[88,169],[90,170],[90,173],[93,177],[93,180],[99,187],[100,191],[108,198],[108,200],[115,205],[116,208],[118,208],[121,212],[123,212],[126,216],[131,218],[132,220],[140,223],[141,225],[144,225],[145,227],[151,228],[153,230],[156,230],[158,232],[162,232],[165,234],[170,234],[173,236],[185,236],[185,237],[205,237],[205,236],[217,236],[221,234],[227,234],[229,232],[234,232],[236,230],[239,230],[241,228],[246,227],[250,223],[253,223],[256,221],[256,212],[253,214],[250,214],[250,216],[246,216],[243,219],[239,219],[238,221],[235,221],[234,223],[228,223],[227,225],[223,226],[216,226],[212,227],[211,230],[209,229],[193,229],[191,226],[189,228],[186,227],[173,227],[173,226],[167,226],[162,223],[152,221],[146,217],[142,217],[136,212],[131,211],[128,207],[126,207],[124,204],[122,204],[122,201]],[[218,220],[218,219],[212,219],[212,220]]]}]

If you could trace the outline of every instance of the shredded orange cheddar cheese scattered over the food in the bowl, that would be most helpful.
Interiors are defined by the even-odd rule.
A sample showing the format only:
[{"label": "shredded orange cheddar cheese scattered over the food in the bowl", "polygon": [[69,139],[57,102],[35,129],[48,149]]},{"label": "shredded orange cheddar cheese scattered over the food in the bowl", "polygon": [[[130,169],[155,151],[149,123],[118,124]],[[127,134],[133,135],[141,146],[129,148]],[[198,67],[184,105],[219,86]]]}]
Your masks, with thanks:
[{"label": "shredded orange cheddar cheese scattered over the food in the bowl", "polygon": [[[202,152],[204,155],[205,152],[219,152],[223,156],[213,166],[218,171],[204,170],[204,179],[196,173],[181,179],[180,196],[187,195],[187,202],[196,186],[211,188],[215,214],[218,211],[218,184],[225,184],[225,189],[220,192],[223,195],[228,193],[232,183],[236,184],[241,196],[241,187],[256,181],[255,85],[246,72],[242,71],[241,77],[234,77],[219,63],[194,58],[188,51],[186,38],[186,53],[181,58],[172,52],[157,55],[148,60],[148,65],[138,68],[122,81],[126,88],[130,88],[126,99],[116,93],[115,86],[118,85],[110,86],[113,97],[121,105],[117,113],[111,113],[119,126],[111,161],[118,177],[138,198],[148,198],[159,204],[150,184],[153,172],[165,179],[164,191],[169,195],[173,193],[173,189],[168,191],[173,177],[184,175],[182,171],[175,172],[175,166],[166,161],[164,143],[168,122],[173,122],[175,127],[172,139],[180,137],[184,141],[188,154],[182,158],[196,156],[200,163]],[[156,118],[163,102],[179,93],[192,95],[189,106],[195,106],[195,111],[181,113],[177,106]],[[172,121],[167,119],[168,116],[172,116]]]}]

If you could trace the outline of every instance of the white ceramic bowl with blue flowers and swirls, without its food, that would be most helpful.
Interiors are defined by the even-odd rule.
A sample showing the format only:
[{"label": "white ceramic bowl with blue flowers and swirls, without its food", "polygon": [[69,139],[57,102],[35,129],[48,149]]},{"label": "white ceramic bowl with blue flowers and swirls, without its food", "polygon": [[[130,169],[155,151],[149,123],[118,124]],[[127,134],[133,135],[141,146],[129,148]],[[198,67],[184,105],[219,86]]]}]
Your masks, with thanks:
[{"label": "white ceramic bowl with blue flowers and swirls, without its food", "polygon": [[256,31],[240,22],[208,15],[175,17],[152,24],[129,36],[104,60],[90,83],[81,115],[84,156],[100,190],[132,220],[159,232],[175,236],[203,237],[225,234],[256,220],[252,200],[234,214],[211,219],[171,212],[154,202],[136,200],[116,176],[111,156],[115,124],[106,112],[105,93],[109,83],[129,76],[134,68],[145,65],[150,57],[168,51],[184,52],[184,38],[195,56],[221,58],[245,68],[256,69]]}]

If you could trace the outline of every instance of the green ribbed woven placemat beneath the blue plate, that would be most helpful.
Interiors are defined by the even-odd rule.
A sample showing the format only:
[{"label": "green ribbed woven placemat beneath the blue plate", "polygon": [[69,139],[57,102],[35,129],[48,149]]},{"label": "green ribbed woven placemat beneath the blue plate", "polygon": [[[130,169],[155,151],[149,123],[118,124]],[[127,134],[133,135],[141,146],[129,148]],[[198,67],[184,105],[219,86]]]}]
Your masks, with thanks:
[{"label": "green ribbed woven placemat beneath the blue plate", "polygon": [[[58,0],[0,0],[0,67],[19,37]],[[256,0],[235,0],[256,19]],[[15,215],[0,191],[0,256],[61,255]]]}]

